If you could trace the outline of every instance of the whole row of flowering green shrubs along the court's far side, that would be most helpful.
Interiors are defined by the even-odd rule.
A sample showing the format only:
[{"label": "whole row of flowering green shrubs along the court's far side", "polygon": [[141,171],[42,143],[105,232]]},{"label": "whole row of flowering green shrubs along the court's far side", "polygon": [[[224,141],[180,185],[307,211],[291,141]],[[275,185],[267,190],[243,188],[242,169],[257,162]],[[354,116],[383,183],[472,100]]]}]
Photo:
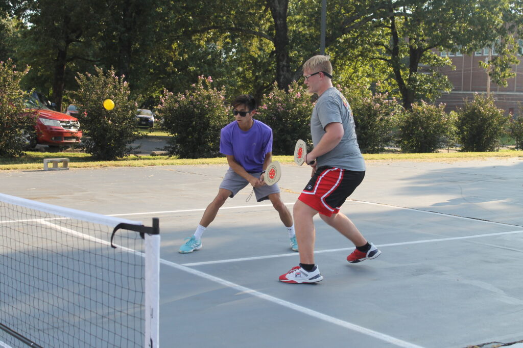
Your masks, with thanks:
[{"label": "whole row of flowering green shrubs along the court's far side", "polygon": [[[16,71],[10,62],[0,63],[0,155],[13,157],[24,150],[24,135],[34,119],[24,114],[20,79],[27,74]],[[84,130],[86,152],[100,160],[111,160],[132,153],[130,144],[142,136],[135,129],[137,103],[123,77],[113,70],[95,75],[78,75],[79,88],[72,92]],[[225,88],[212,87],[211,77],[200,76],[184,93],[164,91],[157,107],[158,124],[172,138],[166,150],[180,158],[219,155],[220,129],[232,122],[230,101]],[[492,98],[476,94],[456,112],[446,113],[445,105],[419,102],[404,110],[386,93],[372,93],[367,86],[339,87],[354,115],[358,143],[363,153],[377,153],[386,147],[402,152],[435,152],[459,145],[462,151],[496,151],[507,135],[523,148],[523,116],[512,118],[497,109]],[[101,101],[110,98],[116,107],[107,111]],[[293,82],[288,91],[264,95],[256,119],[274,133],[273,153],[290,155],[297,139],[310,143],[310,123],[314,103],[302,85]],[[18,115],[18,116],[17,116]],[[26,133],[24,133],[26,132]]]}]

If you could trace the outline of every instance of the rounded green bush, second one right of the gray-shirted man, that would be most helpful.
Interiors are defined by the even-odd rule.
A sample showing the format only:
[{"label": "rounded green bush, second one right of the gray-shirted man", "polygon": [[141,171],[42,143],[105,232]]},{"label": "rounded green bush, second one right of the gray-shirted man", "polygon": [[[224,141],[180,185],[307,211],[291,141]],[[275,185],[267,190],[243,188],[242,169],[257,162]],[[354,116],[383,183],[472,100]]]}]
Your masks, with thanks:
[{"label": "rounded green bush, second one right of the gray-shirted man", "polygon": [[431,105],[422,101],[412,104],[399,120],[399,145],[403,152],[435,152],[448,144],[452,118],[444,111],[445,104]]}]

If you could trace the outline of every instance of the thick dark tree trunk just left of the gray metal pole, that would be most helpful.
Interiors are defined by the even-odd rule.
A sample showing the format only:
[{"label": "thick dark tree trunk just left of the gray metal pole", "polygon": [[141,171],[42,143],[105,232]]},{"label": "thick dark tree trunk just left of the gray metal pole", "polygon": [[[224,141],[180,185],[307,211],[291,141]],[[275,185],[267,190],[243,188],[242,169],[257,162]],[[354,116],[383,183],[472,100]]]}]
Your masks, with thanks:
[{"label": "thick dark tree trunk just left of the gray metal pole", "polygon": [[287,27],[288,0],[267,0],[272,19],[274,19],[274,46],[276,53],[276,81],[278,88],[289,89],[292,72],[289,57],[289,36]]}]

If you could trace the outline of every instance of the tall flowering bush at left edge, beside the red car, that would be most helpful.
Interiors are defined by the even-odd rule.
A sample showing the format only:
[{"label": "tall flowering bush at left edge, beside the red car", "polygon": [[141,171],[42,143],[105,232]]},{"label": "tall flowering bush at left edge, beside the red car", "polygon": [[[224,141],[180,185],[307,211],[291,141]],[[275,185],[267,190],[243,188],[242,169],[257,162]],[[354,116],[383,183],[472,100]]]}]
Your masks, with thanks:
[{"label": "tall flowering bush at left edge, beside the red car", "polygon": [[36,137],[36,115],[24,109],[27,93],[20,89],[29,68],[15,69],[10,59],[0,62],[0,157],[24,154],[28,142]]}]

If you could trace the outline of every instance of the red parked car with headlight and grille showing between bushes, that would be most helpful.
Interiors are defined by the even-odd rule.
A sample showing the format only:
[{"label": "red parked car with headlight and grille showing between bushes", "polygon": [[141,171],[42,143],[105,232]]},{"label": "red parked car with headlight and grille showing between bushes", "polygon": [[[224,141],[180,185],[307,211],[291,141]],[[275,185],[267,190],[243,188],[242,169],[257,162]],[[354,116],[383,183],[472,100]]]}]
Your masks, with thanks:
[{"label": "red parked car with headlight and grille showing between bushes", "polygon": [[36,112],[35,133],[27,137],[28,145],[49,145],[51,147],[71,146],[82,139],[82,130],[76,117],[53,111],[43,105],[35,95],[25,102],[27,109]]}]

